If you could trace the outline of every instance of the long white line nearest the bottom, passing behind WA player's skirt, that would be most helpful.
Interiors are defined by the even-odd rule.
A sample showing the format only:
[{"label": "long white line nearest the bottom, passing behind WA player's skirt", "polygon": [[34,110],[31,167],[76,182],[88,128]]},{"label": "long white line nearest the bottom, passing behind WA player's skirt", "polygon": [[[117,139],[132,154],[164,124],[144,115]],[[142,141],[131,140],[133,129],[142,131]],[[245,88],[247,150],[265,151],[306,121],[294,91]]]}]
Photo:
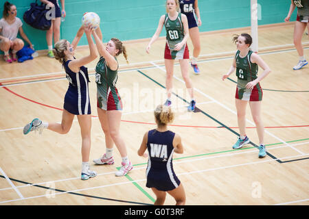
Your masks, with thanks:
[{"label": "long white line nearest the bottom, passing behind WA player's skirt", "polygon": [[[309,155],[309,154],[306,154]],[[289,157],[280,157],[277,159],[290,159],[290,158],[295,158],[295,157],[302,157],[303,155],[295,155],[295,156],[289,156]],[[183,172],[180,175],[191,175],[194,173],[200,173],[200,172],[207,172],[207,171],[213,171],[213,170],[221,170],[221,169],[228,169],[228,168],[233,168],[233,167],[238,167],[238,166],[247,166],[247,165],[251,165],[251,164],[262,164],[262,163],[266,163],[266,162],[274,162],[277,159],[268,159],[268,160],[263,160],[263,161],[259,161],[259,162],[249,162],[249,163],[245,163],[245,164],[236,164],[236,165],[231,165],[231,166],[224,166],[224,167],[218,167],[218,168],[210,168],[210,169],[205,169],[205,170],[196,170],[196,171],[192,171],[192,172]],[[135,181],[126,181],[126,182],[122,182],[122,183],[113,183],[113,184],[108,184],[108,185],[100,185],[100,186],[96,186],[96,187],[90,187],[90,188],[83,188],[83,189],[78,189],[78,190],[71,190],[71,191],[66,191],[66,192],[55,192],[54,194],[52,194],[53,196],[58,195],[58,194],[67,194],[69,192],[80,192],[80,191],[87,191],[87,190],[94,190],[94,189],[100,189],[100,188],[106,188],[106,187],[111,187],[111,186],[115,186],[115,185],[124,185],[124,184],[129,184],[129,183],[137,183],[140,181],[146,181],[146,179],[138,179]],[[0,203],[10,203],[10,202],[14,202],[14,201],[21,201],[21,200],[28,200],[28,199],[33,199],[33,198],[41,198],[41,197],[49,197],[51,194],[44,194],[41,196],[32,196],[32,197],[27,197],[27,198],[17,198],[17,199],[12,199],[9,201],[2,201]]]}]

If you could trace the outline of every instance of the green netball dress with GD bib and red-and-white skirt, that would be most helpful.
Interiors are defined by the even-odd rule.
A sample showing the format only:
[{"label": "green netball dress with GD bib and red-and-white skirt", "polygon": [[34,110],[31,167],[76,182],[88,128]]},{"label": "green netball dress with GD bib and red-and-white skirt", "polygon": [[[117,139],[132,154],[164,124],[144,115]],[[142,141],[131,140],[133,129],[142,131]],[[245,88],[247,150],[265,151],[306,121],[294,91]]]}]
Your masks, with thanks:
[{"label": "green netball dress with GD bib and red-and-white skirt", "polygon": [[189,59],[189,49],[187,49],[187,43],[185,43],[180,51],[174,50],[175,45],[181,42],[185,37],[183,23],[181,21],[181,13],[178,13],[177,18],[174,21],[168,17],[168,14],[165,14],[164,26],[166,30],[164,58],[166,60]]}]

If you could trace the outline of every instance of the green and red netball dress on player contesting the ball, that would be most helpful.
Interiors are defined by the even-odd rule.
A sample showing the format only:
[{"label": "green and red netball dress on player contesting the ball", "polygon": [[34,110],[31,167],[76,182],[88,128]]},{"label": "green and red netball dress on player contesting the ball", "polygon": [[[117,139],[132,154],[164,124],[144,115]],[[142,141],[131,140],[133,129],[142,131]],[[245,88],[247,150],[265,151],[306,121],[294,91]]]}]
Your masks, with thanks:
[{"label": "green and red netball dress on player contesting the ball", "polygon": [[[115,60],[117,60],[115,58]],[[102,110],[122,110],[122,99],[115,87],[118,79],[118,69],[111,70],[106,65],[104,57],[95,66],[95,83],[97,83],[97,106]]]}]

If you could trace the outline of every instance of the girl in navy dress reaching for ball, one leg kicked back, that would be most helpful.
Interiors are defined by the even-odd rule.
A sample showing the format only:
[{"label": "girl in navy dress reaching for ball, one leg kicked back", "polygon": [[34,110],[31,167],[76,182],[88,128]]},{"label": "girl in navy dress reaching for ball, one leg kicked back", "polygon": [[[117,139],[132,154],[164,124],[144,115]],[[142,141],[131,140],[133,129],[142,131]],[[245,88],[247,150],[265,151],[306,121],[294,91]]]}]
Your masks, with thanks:
[{"label": "girl in navy dress reaching for ball, one leg kicked back", "polygon": [[[74,51],[80,38],[86,34],[89,43],[90,54],[86,57],[76,59]],[[95,35],[95,31],[91,27],[80,27],[73,42],[60,40],[55,44],[54,54],[65,68],[65,73],[69,81],[69,88],[65,94],[65,103],[63,105],[62,122],[59,123],[43,123],[38,118],[34,118],[31,123],[25,125],[23,133],[30,131],[49,129],[60,134],[68,133],[73,123],[75,115],[78,117],[80,131],[82,133],[82,175],[81,179],[89,179],[97,174],[89,170],[89,153],[91,145],[91,107],[89,101],[89,77],[88,70],[84,66],[95,60],[98,51],[91,38],[91,34]],[[98,43],[98,42],[97,42]]]}]

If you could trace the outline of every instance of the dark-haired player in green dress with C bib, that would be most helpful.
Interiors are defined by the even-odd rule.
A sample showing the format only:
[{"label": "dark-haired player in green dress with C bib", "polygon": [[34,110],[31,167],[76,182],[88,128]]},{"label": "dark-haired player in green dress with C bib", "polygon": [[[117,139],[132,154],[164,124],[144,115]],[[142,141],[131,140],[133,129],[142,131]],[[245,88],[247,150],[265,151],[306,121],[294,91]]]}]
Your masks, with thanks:
[{"label": "dark-haired player in green dress with C bib", "polygon": [[[265,157],[264,125],[261,118],[263,92],[260,86],[260,81],[271,72],[271,69],[262,60],[260,55],[249,49],[252,44],[252,38],[249,34],[241,34],[240,36],[236,35],[233,38],[233,42],[236,42],[238,51],[236,52],[229,72],[222,76],[222,80],[225,80],[236,69],[236,76],[238,77],[235,98],[240,138],[238,138],[236,144],[233,145],[233,149],[240,149],[242,146],[250,142],[245,132],[246,107],[249,102],[251,114],[260,140],[259,157]],[[264,70],[259,76],[258,66]]]}]

